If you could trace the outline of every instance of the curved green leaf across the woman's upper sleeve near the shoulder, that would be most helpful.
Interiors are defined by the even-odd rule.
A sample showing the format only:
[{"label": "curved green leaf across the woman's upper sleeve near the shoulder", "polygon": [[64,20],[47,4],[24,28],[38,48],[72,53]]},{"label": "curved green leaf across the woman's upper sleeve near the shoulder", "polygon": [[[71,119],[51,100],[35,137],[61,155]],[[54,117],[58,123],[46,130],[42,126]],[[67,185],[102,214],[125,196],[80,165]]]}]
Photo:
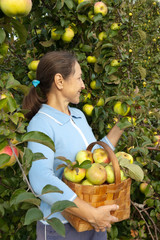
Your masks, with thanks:
[{"label": "curved green leaf across the woman's upper sleeve near the shoulder", "polygon": [[55,152],[55,146],[53,140],[45,133],[39,131],[31,131],[22,136],[21,142],[37,142],[41,143]]}]

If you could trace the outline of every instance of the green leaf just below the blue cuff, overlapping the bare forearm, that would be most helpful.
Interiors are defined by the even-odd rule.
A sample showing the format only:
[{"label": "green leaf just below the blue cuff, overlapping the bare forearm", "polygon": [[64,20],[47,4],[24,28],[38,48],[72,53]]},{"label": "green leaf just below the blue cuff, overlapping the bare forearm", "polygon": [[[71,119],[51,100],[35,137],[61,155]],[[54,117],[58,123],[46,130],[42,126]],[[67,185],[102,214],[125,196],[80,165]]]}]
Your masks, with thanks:
[{"label": "green leaf just below the blue cuff, overlapping the bare forearm", "polygon": [[57,201],[51,206],[51,213],[62,212],[66,208],[77,207],[74,202],[68,200]]}]

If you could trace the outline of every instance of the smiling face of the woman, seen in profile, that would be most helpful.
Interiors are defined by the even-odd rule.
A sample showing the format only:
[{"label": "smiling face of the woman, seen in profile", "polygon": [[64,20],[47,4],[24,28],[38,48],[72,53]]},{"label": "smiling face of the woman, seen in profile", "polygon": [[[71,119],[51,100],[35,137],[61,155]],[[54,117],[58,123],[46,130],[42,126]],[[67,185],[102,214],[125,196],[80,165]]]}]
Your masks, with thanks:
[{"label": "smiling face of the woman, seen in profile", "polygon": [[80,93],[85,88],[82,80],[82,71],[78,62],[75,63],[74,72],[64,81],[63,96],[68,103],[78,104]]}]

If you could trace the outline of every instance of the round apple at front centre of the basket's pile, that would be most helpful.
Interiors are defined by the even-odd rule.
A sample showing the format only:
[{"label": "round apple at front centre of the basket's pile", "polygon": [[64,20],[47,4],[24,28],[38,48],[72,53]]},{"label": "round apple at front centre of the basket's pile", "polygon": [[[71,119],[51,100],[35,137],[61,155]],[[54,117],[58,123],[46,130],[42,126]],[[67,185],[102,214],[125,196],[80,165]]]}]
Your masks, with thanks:
[{"label": "round apple at front centre of the basket's pile", "polygon": [[86,170],[86,178],[94,185],[101,185],[106,181],[107,173],[100,163],[93,163]]}]

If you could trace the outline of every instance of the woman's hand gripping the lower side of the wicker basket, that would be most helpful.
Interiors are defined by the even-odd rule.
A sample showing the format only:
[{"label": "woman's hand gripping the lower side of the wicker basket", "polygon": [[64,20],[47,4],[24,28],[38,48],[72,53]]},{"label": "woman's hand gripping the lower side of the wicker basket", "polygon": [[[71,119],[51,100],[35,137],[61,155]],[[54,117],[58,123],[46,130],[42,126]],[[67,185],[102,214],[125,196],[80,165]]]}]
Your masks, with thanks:
[{"label": "woman's hand gripping the lower side of the wicker basket", "polygon": [[95,231],[106,231],[106,228],[110,228],[111,224],[118,221],[118,218],[111,215],[112,211],[119,208],[118,205],[107,205],[94,208],[93,219],[89,220],[90,224],[94,227]]}]

